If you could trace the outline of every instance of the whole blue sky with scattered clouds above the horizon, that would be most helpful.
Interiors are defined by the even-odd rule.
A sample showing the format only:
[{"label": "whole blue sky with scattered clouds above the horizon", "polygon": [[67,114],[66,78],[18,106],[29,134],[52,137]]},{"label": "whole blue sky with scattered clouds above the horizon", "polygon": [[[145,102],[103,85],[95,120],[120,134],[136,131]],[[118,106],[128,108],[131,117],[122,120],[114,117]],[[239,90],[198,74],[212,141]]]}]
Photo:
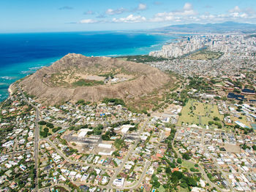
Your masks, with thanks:
[{"label": "whole blue sky with scattered clouds above the horizon", "polygon": [[150,29],[256,23],[255,0],[1,0],[0,33]]}]

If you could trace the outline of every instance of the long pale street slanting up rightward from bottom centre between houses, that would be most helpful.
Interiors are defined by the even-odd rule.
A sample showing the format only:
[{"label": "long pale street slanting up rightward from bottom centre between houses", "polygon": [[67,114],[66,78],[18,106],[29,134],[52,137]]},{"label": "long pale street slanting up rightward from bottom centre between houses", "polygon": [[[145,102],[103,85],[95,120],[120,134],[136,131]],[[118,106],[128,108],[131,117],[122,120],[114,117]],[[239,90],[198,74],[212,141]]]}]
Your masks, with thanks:
[{"label": "long pale street slanting up rightward from bottom centre between houses", "polygon": [[[144,128],[146,127],[146,125],[148,124],[148,120],[149,120],[149,118],[147,118],[147,120],[146,120],[146,122],[144,123],[143,127],[140,128],[140,131],[138,131],[138,135],[139,135],[139,136],[140,136],[140,134],[142,133],[142,131],[144,130]],[[135,148],[137,147],[137,145],[138,145],[139,142],[140,142],[140,138],[138,138],[138,139],[135,141],[134,145],[132,145],[132,148],[129,150],[129,153],[125,156],[124,161],[121,163],[120,166],[118,166],[118,168],[116,169],[116,172],[113,174],[113,176],[111,177],[111,179],[110,179],[108,185],[106,185],[105,188],[107,188],[107,189],[113,188],[113,187],[112,187],[113,180],[116,179],[116,177],[117,177],[117,175],[119,174],[119,172],[121,171],[121,169],[123,169],[124,164],[126,164],[128,158],[129,158],[129,156],[132,154],[133,150],[135,150]]]}]

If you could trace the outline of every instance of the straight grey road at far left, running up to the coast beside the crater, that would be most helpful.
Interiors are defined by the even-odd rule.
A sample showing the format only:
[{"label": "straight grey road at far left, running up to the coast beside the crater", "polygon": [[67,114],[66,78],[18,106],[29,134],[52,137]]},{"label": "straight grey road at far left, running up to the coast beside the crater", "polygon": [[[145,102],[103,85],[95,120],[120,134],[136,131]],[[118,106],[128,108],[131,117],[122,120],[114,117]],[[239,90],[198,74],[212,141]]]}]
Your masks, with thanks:
[{"label": "straight grey road at far left, running up to the coast beside the crater", "polygon": [[35,129],[34,129],[34,169],[35,169],[35,174],[36,177],[34,178],[34,183],[35,183],[35,191],[38,191],[38,145],[39,145],[39,110],[37,109],[34,104],[31,104],[26,96],[24,95],[23,91],[20,89],[20,86],[18,83],[16,84],[18,91],[23,96],[23,99],[26,101],[27,104],[31,105],[35,110],[36,110],[36,120],[35,120]]}]

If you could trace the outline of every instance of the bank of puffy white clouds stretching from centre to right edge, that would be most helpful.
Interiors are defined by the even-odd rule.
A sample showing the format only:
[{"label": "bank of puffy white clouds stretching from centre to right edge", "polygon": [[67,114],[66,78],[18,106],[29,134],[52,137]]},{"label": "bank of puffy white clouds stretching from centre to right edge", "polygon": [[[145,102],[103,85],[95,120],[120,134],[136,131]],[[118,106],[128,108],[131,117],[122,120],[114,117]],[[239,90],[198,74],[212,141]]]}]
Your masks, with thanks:
[{"label": "bank of puffy white clouds stretching from centre to right edge", "polygon": [[[200,14],[193,8],[192,4],[185,3],[181,9],[176,9],[171,12],[159,12],[152,18],[146,18],[143,15],[130,14],[127,17],[115,17],[111,18],[113,15],[118,15],[124,12],[138,12],[138,10],[146,9],[146,4],[139,4],[135,9],[124,9],[123,7],[119,9],[107,9],[104,14],[97,15],[94,19],[84,19],[80,20],[78,23],[159,23],[159,22],[170,22],[171,23],[219,23],[225,21],[235,21],[235,22],[252,22],[256,23],[256,12],[252,8],[240,9],[238,6],[233,7],[233,9],[227,10],[227,12],[222,12],[219,14],[212,14],[211,12],[201,12]],[[88,11],[87,15],[92,15],[94,12]],[[97,20],[97,18],[108,19]]]}]

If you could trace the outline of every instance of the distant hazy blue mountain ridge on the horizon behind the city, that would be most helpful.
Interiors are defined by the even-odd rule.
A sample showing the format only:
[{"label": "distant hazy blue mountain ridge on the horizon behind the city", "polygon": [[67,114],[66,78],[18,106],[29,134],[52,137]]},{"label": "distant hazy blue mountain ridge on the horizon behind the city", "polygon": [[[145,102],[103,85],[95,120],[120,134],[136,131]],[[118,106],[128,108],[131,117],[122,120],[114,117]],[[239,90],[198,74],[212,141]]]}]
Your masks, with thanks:
[{"label": "distant hazy blue mountain ridge on the horizon behind the city", "polygon": [[162,28],[155,29],[156,31],[169,31],[169,32],[189,32],[189,33],[199,33],[199,32],[256,32],[256,25],[249,23],[236,23],[232,21],[227,21],[225,23],[189,23],[182,25],[165,26]]}]

